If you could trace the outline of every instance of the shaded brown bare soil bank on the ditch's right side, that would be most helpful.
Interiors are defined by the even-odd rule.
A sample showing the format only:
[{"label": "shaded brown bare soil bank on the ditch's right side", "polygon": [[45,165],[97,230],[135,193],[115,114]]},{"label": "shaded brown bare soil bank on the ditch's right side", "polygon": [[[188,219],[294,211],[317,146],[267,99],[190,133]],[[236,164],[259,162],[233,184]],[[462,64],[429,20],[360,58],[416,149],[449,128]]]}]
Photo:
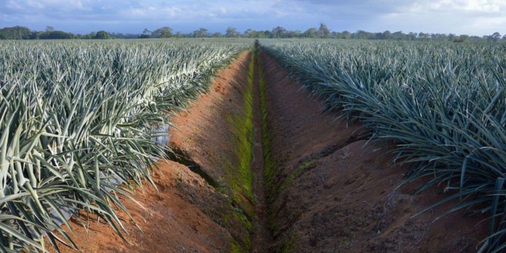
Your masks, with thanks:
[{"label": "shaded brown bare soil bank on the ditch's right side", "polygon": [[486,235],[482,218],[444,216],[446,204],[411,218],[443,197],[443,188],[420,195],[416,184],[394,189],[403,168],[389,165],[385,148],[360,140],[335,113],[286,78],[262,54],[271,157],[270,225],[279,252],[473,252]]}]

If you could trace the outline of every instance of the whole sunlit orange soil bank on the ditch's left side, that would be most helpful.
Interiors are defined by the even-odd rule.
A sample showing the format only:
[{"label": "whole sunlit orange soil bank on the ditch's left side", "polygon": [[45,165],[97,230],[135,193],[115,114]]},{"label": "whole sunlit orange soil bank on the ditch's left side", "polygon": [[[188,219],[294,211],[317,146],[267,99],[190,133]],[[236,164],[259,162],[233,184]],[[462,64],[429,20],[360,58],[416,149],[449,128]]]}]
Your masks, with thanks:
[{"label": "whole sunlit orange soil bank on the ditch's left side", "polygon": [[[220,72],[208,94],[201,95],[191,108],[172,119],[179,126],[171,133],[171,146],[179,154],[174,158],[188,166],[160,162],[160,172],[154,176],[159,193],[146,186],[144,192],[139,190],[134,195],[146,209],[122,198],[142,232],[124,214],[121,218],[129,232],[123,235],[126,242],[103,219],[91,222],[89,230],[74,220],[71,238],[82,252],[249,250],[251,218],[235,205],[243,204],[242,208],[252,210],[252,204],[248,196],[242,202],[233,201],[231,194],[235,189],[232,191],[230,185],[241,182],[235,181],[236,175],[224,171],[236,167],[240,160],[236,153],[238,133],[234,132],[237,125],[233,123],[243,119],[244,94],[251,94],[247,85],[249,61],[249,53],[239,56]],[[251,147],[251,142],[247,145]],[[236,196],[243,198],[241,194]],[[77,252],[65,246],[61,250]]]}]

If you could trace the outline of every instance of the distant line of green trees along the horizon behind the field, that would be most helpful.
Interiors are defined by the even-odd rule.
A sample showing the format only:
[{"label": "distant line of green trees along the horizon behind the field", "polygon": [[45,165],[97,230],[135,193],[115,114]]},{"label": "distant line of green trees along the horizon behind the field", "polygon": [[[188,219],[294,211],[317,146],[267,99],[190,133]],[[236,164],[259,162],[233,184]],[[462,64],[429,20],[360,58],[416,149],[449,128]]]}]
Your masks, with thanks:
[{"label": "distant line of green trees along the horizon behind the field", "polygon": [[453,42],[463,41],[489,41],[498,42],[506,41],[506,34],[501,36],[500,33],[494,32],[491,35],[471,36],[466,34],[456,35],[453,33],[424,33],[424,32],[367,32],[358,30],[356,32],[349,31],[330,31],[330,29],[321,23],[319,28],[313,27],[302,32],[300,30],[287,30],[281,26],[274,27],[272,30],[253,30],[247,29],[239,32],[233,27],[227,28],[225,34],[221,32],[209,33],[207,29],[200,28],[190,33],[174,32],[170,27],[161,27],[156,30],[144,29],[140,34],[123,34],[109,33],[106,31],[92,32],[89,34],[73,34],[69,32],[57,31],[53,27],[48,26],[45,31],[32,31],[27,27],[14,26],[0,29],[0,39],[107,39],[107,38],[341,38],[341,39],[390,39],[390,40],[449,40]]}]

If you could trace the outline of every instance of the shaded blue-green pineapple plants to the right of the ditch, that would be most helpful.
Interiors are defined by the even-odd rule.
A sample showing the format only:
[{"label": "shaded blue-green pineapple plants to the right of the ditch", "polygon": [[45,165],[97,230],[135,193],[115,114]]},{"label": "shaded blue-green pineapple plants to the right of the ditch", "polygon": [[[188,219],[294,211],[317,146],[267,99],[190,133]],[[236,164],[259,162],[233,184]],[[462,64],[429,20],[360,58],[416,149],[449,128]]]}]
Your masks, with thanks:
[{"label": "shaded blue-green pineapple plants to the right of the ditch", "polygon": [[[444,185],[431,207],[488,216],[482,252],[506,248],[506,50],[503,45],[371,41],[261,41],[327,110],[393,143],[416,193]],[[424,212],[425,210],[420,210]]]}]

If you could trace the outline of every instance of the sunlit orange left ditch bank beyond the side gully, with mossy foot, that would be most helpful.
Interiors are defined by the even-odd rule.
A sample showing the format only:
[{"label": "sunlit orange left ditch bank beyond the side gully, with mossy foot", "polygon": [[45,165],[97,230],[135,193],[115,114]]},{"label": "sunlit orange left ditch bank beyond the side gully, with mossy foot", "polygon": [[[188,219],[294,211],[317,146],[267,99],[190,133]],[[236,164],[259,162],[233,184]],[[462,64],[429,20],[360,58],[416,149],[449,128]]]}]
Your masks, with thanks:
[{"label": "sunlit orange left ditch bank beyond the side gully, with mossy foot", "polygon": [[[251,221],[253,199],[235,177],[238,167],[237,136],[231,118],[244,114],[244,93],[247,88],[249,53],[239,57],[233,65],[215,78],[212,89],[202,95],[186,112],[172,118],[178,130],[171,133],[170,147],[191,160],[206,177],[212,179],[228,200],[209,204],[205,197],[193,201],[211,219],[225,227],[234,244],[247,248],[248,228],[241,221]],[[250,143],[251,145],[251,143]],[[238,192],[240,190],[241,192]],[[241,201],[234,200],[237,195]],[[240,214],[240,216],[238,216]]]}]

